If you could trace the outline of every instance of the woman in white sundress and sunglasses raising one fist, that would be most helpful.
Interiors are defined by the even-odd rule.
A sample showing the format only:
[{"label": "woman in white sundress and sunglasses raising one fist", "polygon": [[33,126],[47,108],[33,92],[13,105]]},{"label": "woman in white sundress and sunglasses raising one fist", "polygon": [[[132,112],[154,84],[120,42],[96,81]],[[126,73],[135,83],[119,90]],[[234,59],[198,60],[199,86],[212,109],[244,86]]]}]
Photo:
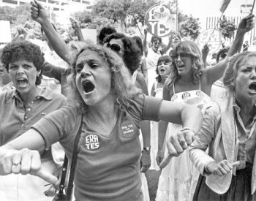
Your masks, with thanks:
[{"label": "woman in white sundress and sunglasses raising one fist", "polygon": [[[232,56],[241,49],[244,34],[253,28],[254,15],[242,19],[238,26],[238,33],[227,56]],[[183,41],[176,45],[173,51],[175,68],[170,80],[167,80],[163,89],[163,99],[171,102],[184,102],[188,105],[196,105],[200,109],[211,101],[211,86],[222,77],[227,58],[220,61],[215,67],[203,68],[202,53],[195,42]],[[203,111],[202,111],[203,112]],[[168,126],[168,129],[167,129]],[[178,124],[159,122],[159,151],[157,160],[162,169],[157,189],[157,200],[192,200],[199,172],[189,159],[189,152],[184,151],[177,158],[170,161],[171,156],[165,153],[164,141],[184,129]],[[162,138],[167,133],[167,137]],[[182,141],[181,141],[182,144]],[[167,144],[168,146],[168,144]],[[170,162],[168,164],[168,162]]]}]

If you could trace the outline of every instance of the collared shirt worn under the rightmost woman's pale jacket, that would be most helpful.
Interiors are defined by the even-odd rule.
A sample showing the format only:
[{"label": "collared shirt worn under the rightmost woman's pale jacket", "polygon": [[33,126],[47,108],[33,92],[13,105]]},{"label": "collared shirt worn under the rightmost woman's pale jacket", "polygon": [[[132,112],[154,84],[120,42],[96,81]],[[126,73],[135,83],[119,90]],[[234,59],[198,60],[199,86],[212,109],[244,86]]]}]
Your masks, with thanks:
[{"label": "collared shirt worn under the rightmost woman's pale jacket", "polygon": [[244,125],[242,118],[240,116],[240,107],[236,104],[236,99],[233,99],[234,117],[236,121],[236,143],[238,143],[238,153],[237,160],[240,161],[240,165],[237,169],[244,169],[246,167],[246,162],[253,164],[255,158],[256,149],[256,114],[253,120],[248,124]]}]

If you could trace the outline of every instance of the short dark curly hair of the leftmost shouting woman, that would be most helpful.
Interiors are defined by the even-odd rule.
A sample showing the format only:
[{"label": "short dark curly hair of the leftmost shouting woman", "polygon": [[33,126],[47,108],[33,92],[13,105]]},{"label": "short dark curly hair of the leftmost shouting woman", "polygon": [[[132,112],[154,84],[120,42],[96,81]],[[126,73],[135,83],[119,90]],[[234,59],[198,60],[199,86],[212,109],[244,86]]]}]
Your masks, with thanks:
[{"label": "short dark curly hair of the leftmost shouting woman", "polygon": [[[2,51],[1,62],[9,72],[10,62],[19,61],[24,59],[32,62],[37,68],[37,71],[42,69],[42,64],[45,62],[44,54],[41,52],[38,45],[26,40],[15,40],[8,43]],[[36,80],[36,85],[39,85],[42,80],[42,71]]]}]

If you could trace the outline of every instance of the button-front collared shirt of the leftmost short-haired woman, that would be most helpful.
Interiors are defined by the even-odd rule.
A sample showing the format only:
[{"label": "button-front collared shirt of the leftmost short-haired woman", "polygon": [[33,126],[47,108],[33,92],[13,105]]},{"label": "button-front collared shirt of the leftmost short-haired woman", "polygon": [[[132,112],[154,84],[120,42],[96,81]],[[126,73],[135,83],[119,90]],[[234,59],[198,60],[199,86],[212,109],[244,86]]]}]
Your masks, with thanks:
[{"label": "button-front collared shirt of the leftmost short-haired woman", "polygon": [[23,105],[15,89],[0,94],[0,145],[20,136],[40,118],[66,104],[63,95],[49,88],[42,88],[28,105]]}]

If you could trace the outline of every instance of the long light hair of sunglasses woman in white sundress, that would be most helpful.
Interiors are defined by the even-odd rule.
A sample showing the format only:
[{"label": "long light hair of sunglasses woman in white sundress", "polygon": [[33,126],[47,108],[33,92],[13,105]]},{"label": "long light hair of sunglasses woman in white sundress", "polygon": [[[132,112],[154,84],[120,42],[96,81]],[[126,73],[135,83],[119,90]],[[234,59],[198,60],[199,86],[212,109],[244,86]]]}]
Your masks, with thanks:
[{"label": "long light hair of sunglasses woman in white sundress", "polygon": [[[202,53],[198,46],[195,44],[195,42],[190,40],[185,40],[182,42],[179,42],[174,50],[172,51],[171,57],[173,58],[176,53],[178,53],[178,50],[181,50],[184,53],[188,53],[192,58],[192,80],[193,83],[199,83],[200,82],[200,72],[203,68],[203,58]],[[180,79],[181,75],[178,75],[178,70],[176,67],[176,64],[174,64],[173,73],[170,75],[170,77],[167,79],[166,84],[167,86],[172,86],[173,83],[176,82],[176,80]]]}]

